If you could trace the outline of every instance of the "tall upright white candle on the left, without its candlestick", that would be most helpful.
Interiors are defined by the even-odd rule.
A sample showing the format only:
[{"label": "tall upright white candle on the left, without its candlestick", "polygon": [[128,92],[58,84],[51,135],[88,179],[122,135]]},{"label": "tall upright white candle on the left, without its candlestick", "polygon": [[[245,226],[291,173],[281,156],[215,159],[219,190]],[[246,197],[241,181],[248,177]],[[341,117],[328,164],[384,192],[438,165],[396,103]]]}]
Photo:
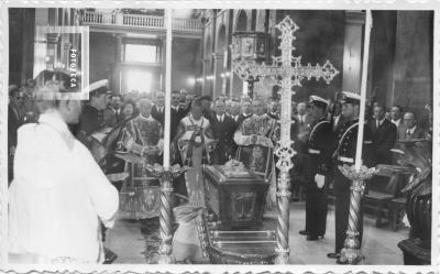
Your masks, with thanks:
[{"label": "tall upright white candle on the left, without its candlestick", "polygon": [[165,10],[166,20],[166,70],[165,70],[165,122],[164,122],[164,168],[169,168],[170,120],[172,120],[172,31],[173,10]]}]

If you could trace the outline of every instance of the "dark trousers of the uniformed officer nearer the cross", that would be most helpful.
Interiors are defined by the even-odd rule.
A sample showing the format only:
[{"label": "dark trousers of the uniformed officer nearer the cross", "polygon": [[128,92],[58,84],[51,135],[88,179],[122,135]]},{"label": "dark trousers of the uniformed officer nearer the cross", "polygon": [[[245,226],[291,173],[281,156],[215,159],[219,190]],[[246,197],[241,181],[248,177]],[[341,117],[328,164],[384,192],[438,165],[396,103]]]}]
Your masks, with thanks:
[{"label": "dark trousers of the uniformed officer nearer the cross", "polygon": [[308,188],[306,193],[306,231],[312,237],[324,235],[327,193],[324,188]]}]

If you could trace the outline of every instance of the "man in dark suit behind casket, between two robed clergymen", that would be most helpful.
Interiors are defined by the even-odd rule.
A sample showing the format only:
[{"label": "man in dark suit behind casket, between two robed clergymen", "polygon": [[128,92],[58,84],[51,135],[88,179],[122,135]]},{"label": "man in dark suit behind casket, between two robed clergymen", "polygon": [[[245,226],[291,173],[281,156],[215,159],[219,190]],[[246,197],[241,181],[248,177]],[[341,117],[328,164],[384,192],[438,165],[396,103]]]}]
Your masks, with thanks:
[{"label": "man in dark suit behind casket, between two robed clergymen", "polygon": [[211,117],[211,130],[213,138],[218,141],[216,149],[211,152],[211,164],[223,165],[229,158],[234,156],[235,143],[233,134],[237,130],[237,123],[231,117],[226,114],[224,101],[217,99],[215,101],[215,112]]}]

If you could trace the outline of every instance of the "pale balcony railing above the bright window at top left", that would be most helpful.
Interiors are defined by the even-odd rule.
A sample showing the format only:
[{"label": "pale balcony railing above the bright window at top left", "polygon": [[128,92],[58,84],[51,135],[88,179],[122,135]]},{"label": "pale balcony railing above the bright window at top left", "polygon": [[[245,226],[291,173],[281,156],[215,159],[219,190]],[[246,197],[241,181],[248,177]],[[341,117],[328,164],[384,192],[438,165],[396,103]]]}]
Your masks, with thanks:
[{"label": "pale balcony railing above the bright window at top left", "polygon": [[[116,25],[165,30],[164,19],[164,17],[154,15],[86,11],[81,22],[87,25]],[[201,22],[197,19],[173,19],[174,31],[201,33]]]}]

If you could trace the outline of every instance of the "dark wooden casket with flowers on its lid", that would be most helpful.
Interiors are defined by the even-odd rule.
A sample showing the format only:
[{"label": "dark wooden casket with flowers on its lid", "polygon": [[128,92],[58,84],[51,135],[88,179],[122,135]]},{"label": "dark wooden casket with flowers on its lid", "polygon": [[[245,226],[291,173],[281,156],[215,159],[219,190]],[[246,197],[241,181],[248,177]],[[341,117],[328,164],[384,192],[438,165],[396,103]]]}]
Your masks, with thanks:
[{"label": "dark wooden casket with flowers on its lid", "polygon": [[208,212],[215,215],[220,229],[261,224],[268,183],[248,169],[205,165],[202,173]]}]

